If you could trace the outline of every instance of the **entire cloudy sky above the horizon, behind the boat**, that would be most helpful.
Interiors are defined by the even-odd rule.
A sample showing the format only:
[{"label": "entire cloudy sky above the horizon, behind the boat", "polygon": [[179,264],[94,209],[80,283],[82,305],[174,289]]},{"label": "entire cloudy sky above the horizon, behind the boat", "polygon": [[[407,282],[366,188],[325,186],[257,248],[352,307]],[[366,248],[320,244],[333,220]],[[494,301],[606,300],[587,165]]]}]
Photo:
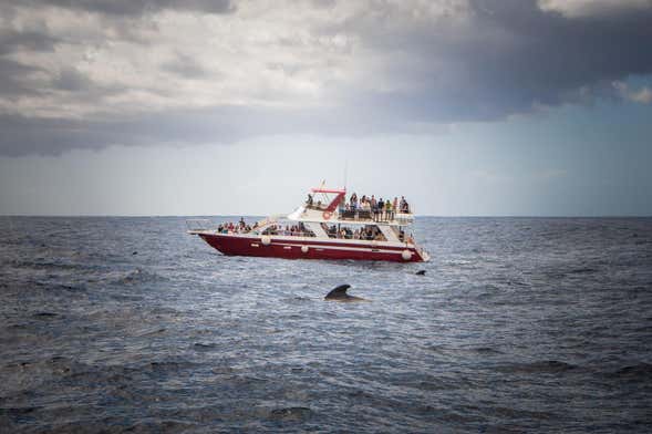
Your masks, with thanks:
[{"label": "entire cloudy sky above the horizon, behind the boat", "polygon": [[0,215],[651,216],[652,0],[0,0]]}]

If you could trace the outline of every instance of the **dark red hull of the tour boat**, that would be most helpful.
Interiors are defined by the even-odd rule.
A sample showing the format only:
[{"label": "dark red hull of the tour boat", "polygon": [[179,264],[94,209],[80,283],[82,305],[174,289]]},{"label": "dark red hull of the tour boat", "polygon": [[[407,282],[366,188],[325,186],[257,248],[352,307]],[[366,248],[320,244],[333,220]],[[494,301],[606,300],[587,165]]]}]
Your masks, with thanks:
[{"label": "dark red hull of the tour boat", "polygon": [[[263,245],[260,237],[246,237],[221,234],[198,234],[211,247],[227,256],[258,256],[283,259],[356,259],[384,260],[396,262],[421,262],[424,258],[413,247],[372,246],[345,241],[327,241],[317,239],[291,239],[290,237],[271,237],[269,245]],[[308,251],[303,251],[306,250]],[[408,250],[410,259],[403,258]]]}]

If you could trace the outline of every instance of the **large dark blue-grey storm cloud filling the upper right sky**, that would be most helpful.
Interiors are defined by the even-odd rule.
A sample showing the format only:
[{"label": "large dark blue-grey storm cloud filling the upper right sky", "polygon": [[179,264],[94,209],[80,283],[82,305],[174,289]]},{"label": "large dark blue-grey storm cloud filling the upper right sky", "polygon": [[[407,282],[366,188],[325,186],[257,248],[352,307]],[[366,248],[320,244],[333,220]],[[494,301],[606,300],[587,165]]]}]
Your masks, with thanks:
[{"label": "large dark blue-grey storm cloud filling the upper right sky", "polygon": [[[446,22],[396,35],[365,23],[361,37],[377,50],[411,53],[418,62],[389,65],[407,92],[354,94],[410,120],[498,120],[613,96],[614,80],[652,72],[652,7],[567,18],[530,0],[475,0],[469,27]],[[351,30],[359,23],[349,23]]]}]

